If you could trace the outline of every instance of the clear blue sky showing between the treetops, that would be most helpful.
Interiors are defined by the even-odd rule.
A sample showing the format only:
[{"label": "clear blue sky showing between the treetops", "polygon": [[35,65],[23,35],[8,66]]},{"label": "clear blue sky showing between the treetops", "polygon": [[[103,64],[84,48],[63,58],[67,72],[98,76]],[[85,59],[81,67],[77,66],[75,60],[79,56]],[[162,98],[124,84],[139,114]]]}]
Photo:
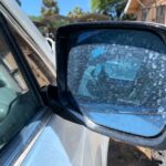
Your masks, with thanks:
[{"label": "clear blue sky showing between the treetops", "polygon": [[[80,7],[84,11],[90,11],[90,0],[56,0],[60,14],[66,15],[74,7]],[[40,15],[42,0],[21,0],[21,8],[29,15]]]}]

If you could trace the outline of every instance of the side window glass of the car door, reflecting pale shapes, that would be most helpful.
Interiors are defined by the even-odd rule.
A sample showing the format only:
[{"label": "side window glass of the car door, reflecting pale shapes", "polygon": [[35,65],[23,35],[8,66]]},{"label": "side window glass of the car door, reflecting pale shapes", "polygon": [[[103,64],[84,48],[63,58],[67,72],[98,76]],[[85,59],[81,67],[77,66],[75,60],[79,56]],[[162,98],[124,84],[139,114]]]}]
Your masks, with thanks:
[{"label": "side window glass of the car door, reflecting pale shapes", "polygon": [[41,107],[29,89],[0,27],[0,149]]}]

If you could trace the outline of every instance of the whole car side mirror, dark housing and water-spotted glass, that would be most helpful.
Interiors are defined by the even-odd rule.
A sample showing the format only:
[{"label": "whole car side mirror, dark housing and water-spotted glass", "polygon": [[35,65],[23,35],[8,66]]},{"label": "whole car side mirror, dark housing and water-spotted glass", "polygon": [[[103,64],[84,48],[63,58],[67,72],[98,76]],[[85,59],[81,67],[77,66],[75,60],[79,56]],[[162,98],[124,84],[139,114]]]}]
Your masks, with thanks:
[{"label": "whole car side mirror, dark housing and water-spotted glass", "polygon": [[153,148],[166,147],[166,28],[110,22],[56,32],[63,108],[91,129]]}]

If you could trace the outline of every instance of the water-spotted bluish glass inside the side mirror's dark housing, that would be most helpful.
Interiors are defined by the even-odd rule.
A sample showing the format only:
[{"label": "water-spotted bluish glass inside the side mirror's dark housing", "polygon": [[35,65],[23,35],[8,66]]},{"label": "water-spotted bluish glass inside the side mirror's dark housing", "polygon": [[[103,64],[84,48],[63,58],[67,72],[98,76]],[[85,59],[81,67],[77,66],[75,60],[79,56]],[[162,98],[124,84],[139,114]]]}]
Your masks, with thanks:
[{"label": "water-spotted bluish glass inside the side mirror's dark housing", "polygon": [[68,89],[94,123],[145,137],[166,123],[166,45],[151,31],[102,29],[70,37]]}]

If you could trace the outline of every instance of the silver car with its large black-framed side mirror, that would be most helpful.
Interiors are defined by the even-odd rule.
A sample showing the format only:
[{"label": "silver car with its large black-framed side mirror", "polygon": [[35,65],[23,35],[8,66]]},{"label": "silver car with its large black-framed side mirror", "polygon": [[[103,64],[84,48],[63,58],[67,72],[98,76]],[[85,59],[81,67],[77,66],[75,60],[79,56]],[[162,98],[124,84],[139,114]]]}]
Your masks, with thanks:
[{"label": "silver car with its large black-framed side mirror", "polygon": [[[56,61],[55,61],[56,60]],[[106,166],[108,138],[166,148],[166,28],[62,27],[56,58],[0,2],[0,165]]]}]

